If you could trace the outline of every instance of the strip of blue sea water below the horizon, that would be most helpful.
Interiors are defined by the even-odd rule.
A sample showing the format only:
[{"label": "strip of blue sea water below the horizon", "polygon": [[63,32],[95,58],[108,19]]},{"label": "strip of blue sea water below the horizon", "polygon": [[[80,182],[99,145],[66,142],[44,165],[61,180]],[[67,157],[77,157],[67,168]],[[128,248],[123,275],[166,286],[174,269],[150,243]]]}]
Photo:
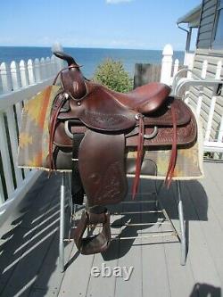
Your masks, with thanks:
[{"label": "strip of blue sea water below the horizon", "polygon": [[[82,71],[87,78],[94,75],[97,65],[106,58],[112,58],[123,63],[125,70],[133,77],[136,62],[161,64],[162,50],[132,50],[132,49],[105,49],[105,48],[78,48],[64,47],[64,52],[74,57],[78,64],[83,65]],[[50,47],[29,46],[0,46],[1,62],[20,62],[29,59],[40,59],[51,56]],[[184,52],[174,52],[174,59],[183,63]]]}]

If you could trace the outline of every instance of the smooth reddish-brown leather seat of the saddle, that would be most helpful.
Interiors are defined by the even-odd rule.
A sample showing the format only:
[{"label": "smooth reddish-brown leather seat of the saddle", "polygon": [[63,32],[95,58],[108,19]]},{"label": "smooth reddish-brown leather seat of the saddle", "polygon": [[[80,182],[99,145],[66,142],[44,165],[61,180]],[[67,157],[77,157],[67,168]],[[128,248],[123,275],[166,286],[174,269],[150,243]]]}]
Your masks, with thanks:
[{"label": "smooth reddish-brown leather seat of the saddle", "polygon": [[[104,87],[103,87],[104,88]],[[129,93],[119,93],[106,88],[106,92],[128,109],[150,115],[167,100],[171,89],[165,84],[153,82],[136,87]]]}]

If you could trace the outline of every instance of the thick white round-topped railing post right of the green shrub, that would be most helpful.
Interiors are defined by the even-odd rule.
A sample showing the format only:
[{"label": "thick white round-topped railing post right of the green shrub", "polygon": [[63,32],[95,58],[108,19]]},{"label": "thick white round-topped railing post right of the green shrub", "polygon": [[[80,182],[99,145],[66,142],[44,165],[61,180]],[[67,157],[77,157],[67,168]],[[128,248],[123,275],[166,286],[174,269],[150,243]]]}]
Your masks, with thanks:
[{"label": "thick white round-topped railing post right of the green shrub", "polygon": [[173,62],[173,48],[171,45],[164,46],[162,56],[163,57],[161,60],[161,83],[170,85]]}]

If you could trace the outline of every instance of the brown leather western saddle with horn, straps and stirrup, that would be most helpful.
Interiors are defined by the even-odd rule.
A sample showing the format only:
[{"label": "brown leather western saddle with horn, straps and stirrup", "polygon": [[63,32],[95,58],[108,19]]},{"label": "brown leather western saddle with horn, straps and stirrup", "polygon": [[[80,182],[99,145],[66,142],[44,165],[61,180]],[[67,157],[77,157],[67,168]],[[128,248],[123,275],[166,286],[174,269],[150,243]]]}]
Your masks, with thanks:
[{"label": "brown leather western saddle with horn, straps and stirrup", "polygon": [[[169,149],[165,184],[170,185],[179,147],[196,140],[194,114],[170,88],[161,83],[137,87],[128,94],[84,78],[80,66],[67,54],[56,52],[68,62],[61,77],[61,90],[54,99],[49,122],[48,167],[71,169],[75,203],[87,194],[74,239],[83,254],[103,252],[111,241],[110,215],[105,206],[124,200],[128,192],[127,173],[135,174],[133,197],[140,174],[156,174],[156,166],[144,160],[145,150]],[[54,81],[54,83],[55,83]],[[137,151],[136,161],[125,158]],[[83,238],[87,226],[101,224],[103,230]]]}]

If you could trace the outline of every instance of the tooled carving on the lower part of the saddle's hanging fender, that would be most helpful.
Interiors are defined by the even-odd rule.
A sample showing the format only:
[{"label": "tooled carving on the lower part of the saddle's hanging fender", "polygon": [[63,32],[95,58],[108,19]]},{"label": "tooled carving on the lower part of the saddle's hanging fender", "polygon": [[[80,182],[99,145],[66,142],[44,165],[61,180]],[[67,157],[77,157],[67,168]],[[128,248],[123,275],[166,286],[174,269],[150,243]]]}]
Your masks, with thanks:
[{"label": "tooled carving on the lower part of the saddle's hanging fender", "polygon": [[94,197],[91,197],[91,204],[113,204],[123,200],[125,193],[123,193],[122,185],[125,180],[121,172],[119,161],[115,161],[108,167],[103,177],[100,178],[98,191],[95,192]]}]

